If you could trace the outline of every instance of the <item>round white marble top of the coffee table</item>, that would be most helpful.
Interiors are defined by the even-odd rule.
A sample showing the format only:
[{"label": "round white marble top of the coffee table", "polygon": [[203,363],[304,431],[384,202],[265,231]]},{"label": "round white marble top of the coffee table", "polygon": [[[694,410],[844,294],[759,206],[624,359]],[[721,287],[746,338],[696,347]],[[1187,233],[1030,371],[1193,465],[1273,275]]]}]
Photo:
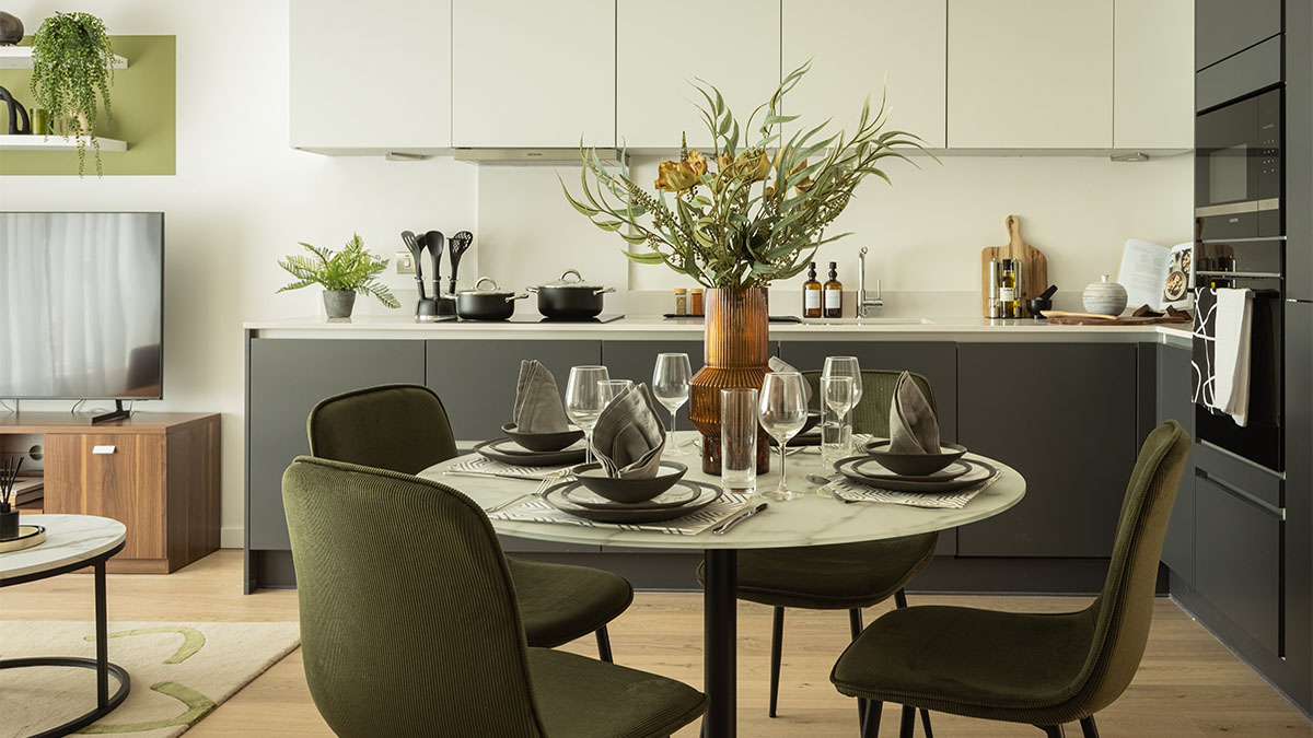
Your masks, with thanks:
[{"label": "round white marble top of the coffee table", "polygon": [[24,515],[21,525],[43,525],[45,542],[0,553],[0,582],[88,561],[123,542],[127,528],[95,515]]}]

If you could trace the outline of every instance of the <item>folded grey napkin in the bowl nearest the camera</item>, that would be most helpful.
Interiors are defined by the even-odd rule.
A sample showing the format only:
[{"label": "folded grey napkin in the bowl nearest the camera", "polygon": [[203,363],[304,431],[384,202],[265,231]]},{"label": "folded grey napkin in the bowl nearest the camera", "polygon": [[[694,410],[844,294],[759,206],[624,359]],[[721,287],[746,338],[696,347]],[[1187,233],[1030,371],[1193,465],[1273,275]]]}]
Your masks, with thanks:
[{"label": "folded grey napkin in the bowl nearest the camera", "polygon": [[608,477],[647,479],[656,475],[666,428],[647,385],[625,389],[597,416],[592,446]]}]

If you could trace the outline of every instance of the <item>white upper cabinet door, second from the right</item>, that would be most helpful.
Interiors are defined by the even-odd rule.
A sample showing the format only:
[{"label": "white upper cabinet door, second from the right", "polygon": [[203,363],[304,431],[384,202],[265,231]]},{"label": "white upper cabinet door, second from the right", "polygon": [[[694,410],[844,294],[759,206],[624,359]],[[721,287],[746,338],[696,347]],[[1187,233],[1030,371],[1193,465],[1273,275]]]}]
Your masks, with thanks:
[{"label": "white upper cabinet door, second from the right", "polygon": [[952,0],[948,146],[1111,148],[1112,1]]}]

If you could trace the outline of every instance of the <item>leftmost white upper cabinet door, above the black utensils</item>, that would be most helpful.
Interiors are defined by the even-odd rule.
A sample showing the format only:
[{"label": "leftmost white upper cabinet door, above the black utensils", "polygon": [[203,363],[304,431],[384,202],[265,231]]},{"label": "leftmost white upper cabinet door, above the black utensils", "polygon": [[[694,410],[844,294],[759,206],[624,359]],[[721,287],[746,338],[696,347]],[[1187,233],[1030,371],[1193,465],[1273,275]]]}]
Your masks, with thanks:
[{"label": "leftmost white upper cabinet door, above the black utensils", "polygon": [[432,154],[452,146],[448,0],[291,0],[291,146]]}]

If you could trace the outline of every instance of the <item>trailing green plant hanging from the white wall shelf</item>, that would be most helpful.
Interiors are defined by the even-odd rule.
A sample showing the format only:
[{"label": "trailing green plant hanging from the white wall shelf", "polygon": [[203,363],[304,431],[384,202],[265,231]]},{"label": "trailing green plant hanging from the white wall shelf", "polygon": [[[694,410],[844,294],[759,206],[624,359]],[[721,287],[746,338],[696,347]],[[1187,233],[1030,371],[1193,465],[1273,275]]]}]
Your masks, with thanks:
[{"label": "trailing green plant hanging from the white wall shelf", "polygon": [[[114,79],[114,49],[105,24],[91,13],[55,13],[32,37],[32,95],[37,108],[50,112],[50,122],[77,138],[77,176],[87,160],[87,139],[96,152],[96,175],[102,175],[100,96],[110,117],[109,84]],[[81,138],[85,135],[87,139]]]}]

